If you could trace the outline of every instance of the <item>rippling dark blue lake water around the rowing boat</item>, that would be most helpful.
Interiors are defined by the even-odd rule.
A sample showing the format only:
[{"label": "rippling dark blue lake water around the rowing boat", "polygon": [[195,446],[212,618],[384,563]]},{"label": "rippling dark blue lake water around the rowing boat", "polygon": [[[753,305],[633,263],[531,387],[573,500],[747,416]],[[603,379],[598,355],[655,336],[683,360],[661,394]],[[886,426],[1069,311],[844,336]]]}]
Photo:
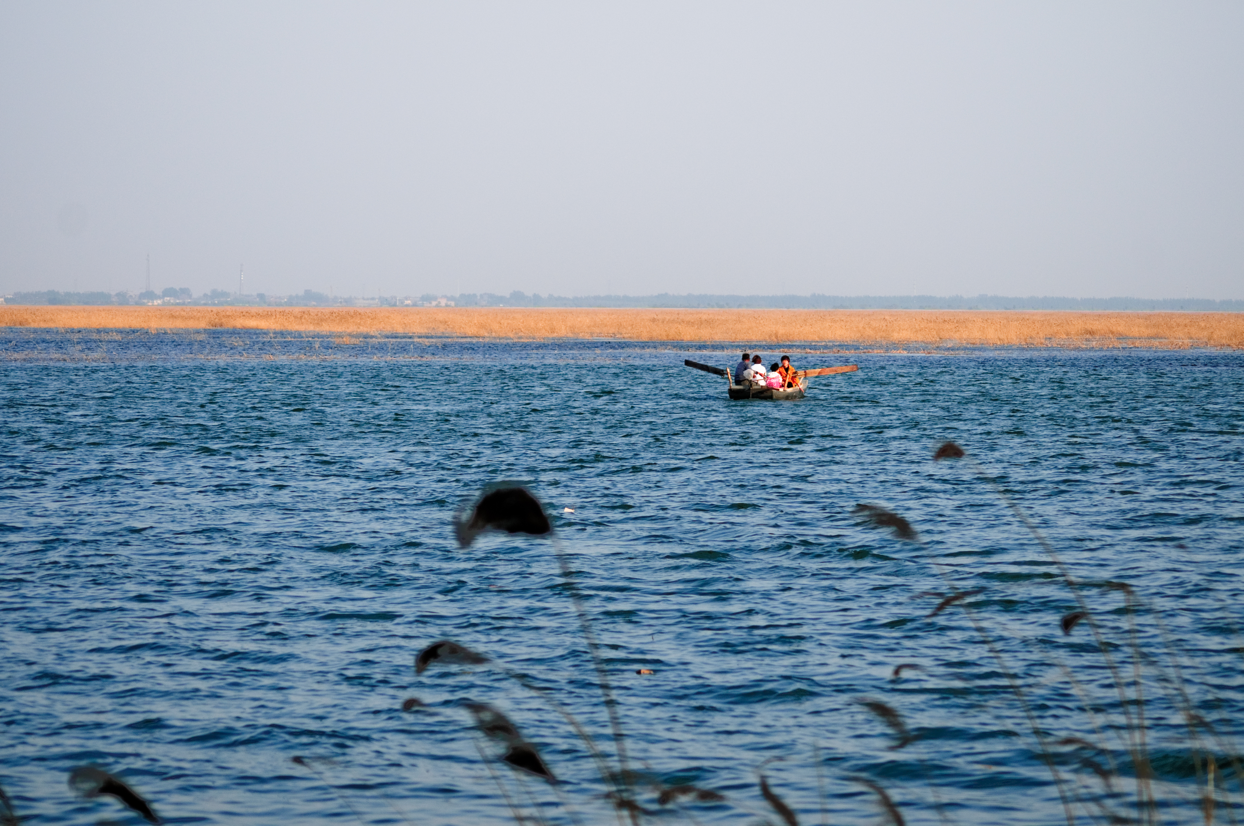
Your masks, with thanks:
[{"label": "rippling dark blue lake water around the rowing boat", "polygon": [[[1203,822],[1207,754],[1219,817],[1238,807],[1244,355],[802,350],[860,372],[729,402],[682,366],[736,360],[715,346],[0,331],[0,787],[31,824],[142,822],[70,792],[85,764],[169,822],[616,824],[583,743],[511,675],[612,759],[560,550],[644,822],[781,822],[761,764],[804,824],[882,822],[858,779],[908,824],[1064,822],[1008,673],[1077,822],[1135,817],[1110,672],[1086,623],[1060,631],[1075,598],[1011,501],[1084,583],[1130,698],[1143,652],[1154,820]],[[945,439],[968,459],[932,462]],[[458,547],[455,511],[499,480],[556,540]],[[983,591],[927,617],[952,587]],[[442,638],[496,667],[417,677]],[[485,763],[470,700],[562,782]],[[725,800],[658,806],[683,782]]]}]

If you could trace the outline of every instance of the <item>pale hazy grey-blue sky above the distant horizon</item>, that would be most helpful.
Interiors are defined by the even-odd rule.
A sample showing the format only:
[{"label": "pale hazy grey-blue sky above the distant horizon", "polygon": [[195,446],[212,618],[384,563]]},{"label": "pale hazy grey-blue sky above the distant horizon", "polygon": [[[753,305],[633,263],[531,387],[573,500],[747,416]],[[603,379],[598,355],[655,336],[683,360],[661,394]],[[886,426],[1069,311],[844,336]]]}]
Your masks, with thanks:
[{"label": "pale hazy grey-blue sky above the distant horizon", "polygon": [[0,290],[1244,299],[1244,2],[0,4]]}]

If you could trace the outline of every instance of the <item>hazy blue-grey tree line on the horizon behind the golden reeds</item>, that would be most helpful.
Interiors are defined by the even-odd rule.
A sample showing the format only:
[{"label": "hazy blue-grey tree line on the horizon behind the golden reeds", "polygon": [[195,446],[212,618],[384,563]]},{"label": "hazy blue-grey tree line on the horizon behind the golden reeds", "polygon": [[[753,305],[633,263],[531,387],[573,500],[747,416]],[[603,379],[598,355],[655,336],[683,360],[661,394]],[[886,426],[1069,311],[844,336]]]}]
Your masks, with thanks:
[{"label": "hazy blue-grey tree line on the horizon behind the golden reeds", "polygon": [[1213,299],[1067,299],[1061,296],[840,296],[822,295],[590,295],[559,296],[527,295],[515,290],[509,295],[495,292],[462,292],[459,295],[427,292],[413,296],[379,296],[357,299],[355,296],[328,296],[315,290],[304,290],[287,296],[267,296],[262,292],[239,296],[224,290],[211,290],[195,297],[187,287],[165,287],[162,292],[15,292],[4,297],[5,304],[25,305],[143,305],[159,301],[194,306],[267,306],[267,307],[330,307],[330,306],[418,306],[453,302],[459,307],[682,307],[682,309],[766,309],[766,310],[1187,310],[1242,312],[1244,301]]}]

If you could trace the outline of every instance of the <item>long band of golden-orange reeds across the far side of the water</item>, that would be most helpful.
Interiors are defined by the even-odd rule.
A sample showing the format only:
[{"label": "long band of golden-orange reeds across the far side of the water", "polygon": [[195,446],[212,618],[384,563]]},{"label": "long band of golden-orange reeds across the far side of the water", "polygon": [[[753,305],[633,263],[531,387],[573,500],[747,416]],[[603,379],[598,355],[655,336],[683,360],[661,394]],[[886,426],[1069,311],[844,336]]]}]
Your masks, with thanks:
[{"label": "long band of golden-orange reeds across the far side of the water", "polygon": [[1020,347],[1244,347],[1244,313],[970,310],[0,306],[0,326],[290,330],[480,338]]}]

